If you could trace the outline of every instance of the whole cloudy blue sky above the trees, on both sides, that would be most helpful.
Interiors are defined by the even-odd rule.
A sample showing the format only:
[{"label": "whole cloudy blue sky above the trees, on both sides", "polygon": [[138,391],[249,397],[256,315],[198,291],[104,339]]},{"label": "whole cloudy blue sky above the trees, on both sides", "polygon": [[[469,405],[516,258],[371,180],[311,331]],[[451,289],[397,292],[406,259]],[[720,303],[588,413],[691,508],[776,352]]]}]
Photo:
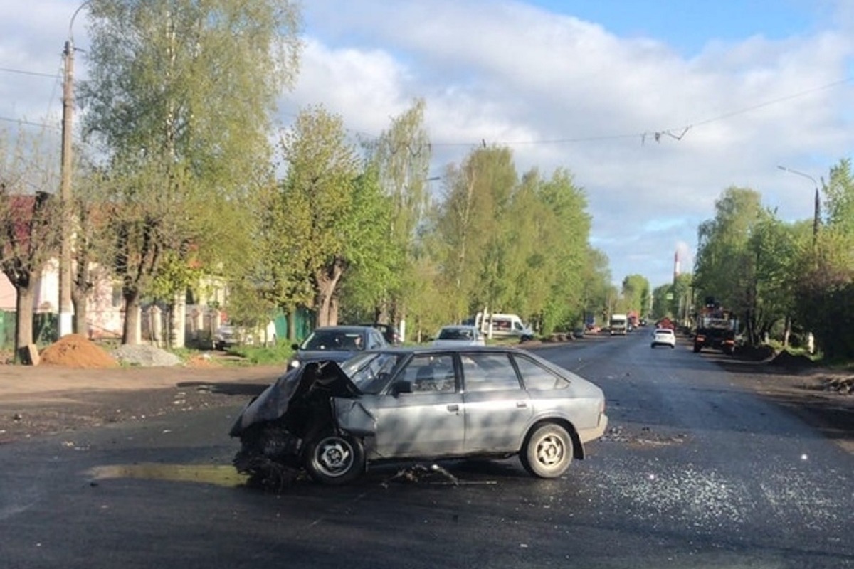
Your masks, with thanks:
[{"label": "whole cloudy blue sky above the trees, on both sides", "polygon": [[[80,3],[5,0],[0,69],[58,73]],[[433,171],[482,140],[518,172],[557,168],[588,196],[612,280],[691,270],[697,227],[731,185],[786,220],[851,155],[854,3],[829,0],[306,0],[305,50],[278,122],[322,104],[378,135],[426,102]],[[74,26],[85,47],[85,15]],[[77,72],[85,74],[85,55]],[[56,122],[51,78],[0,70],[0,119]],[[433,183],[437,194],[442,182]]]}]

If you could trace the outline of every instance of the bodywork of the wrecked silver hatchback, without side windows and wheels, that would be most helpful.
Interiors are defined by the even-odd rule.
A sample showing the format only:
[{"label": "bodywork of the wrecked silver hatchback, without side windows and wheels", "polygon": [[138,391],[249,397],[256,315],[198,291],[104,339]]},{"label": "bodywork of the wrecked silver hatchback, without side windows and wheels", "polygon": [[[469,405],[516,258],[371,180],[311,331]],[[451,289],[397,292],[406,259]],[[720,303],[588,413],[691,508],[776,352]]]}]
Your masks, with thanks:
[{"label": "bodywork of the wrecked silver hatchback, without side windows and wheels", "polygon": [[[412,352],[422,357],[432,353],[459,357],[457,354],[465,351],[491,350],[424,348]],[[328,394],[333,427],[363,439],[369,461],[512,456],[523,447],[531,427],[541,421],[564,423],[577,435],[579,444],[605,433],[605,397],[598,386],[529,352],[512,348],[495,352],[528,358],[563,378],[567,385],[556,389],[524,389],[520,385],[514,389],[466,392],[465,374],[458,361],[453,391],[395,392],[389,380],[389,386],[382,391],[365,393],[337,363],[309,363],[284,374],[250,402],[237,418],[231,435],[241,436],[254,424],[284,420],[295,401],[306,399],[313,389]],[[401,360],[394,379],[411,361]],[[582,448],[577,449],[576,456],[583,456]]]}]

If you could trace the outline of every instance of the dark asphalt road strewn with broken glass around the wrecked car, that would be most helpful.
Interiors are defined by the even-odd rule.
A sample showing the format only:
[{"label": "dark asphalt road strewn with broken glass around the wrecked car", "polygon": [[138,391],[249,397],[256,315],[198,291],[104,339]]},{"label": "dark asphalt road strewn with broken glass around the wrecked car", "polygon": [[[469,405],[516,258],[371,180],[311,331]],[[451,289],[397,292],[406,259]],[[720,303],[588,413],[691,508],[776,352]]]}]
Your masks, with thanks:
[{"label": "dark asphalt road strewn with broken glass around the wrecked car", "polygon": [[0,446],[0,567],[854,566],[854,456],[795,415],[643,332],[538,351],[608,401],[563,479],[510,459],[254,491],[236,400]]}]

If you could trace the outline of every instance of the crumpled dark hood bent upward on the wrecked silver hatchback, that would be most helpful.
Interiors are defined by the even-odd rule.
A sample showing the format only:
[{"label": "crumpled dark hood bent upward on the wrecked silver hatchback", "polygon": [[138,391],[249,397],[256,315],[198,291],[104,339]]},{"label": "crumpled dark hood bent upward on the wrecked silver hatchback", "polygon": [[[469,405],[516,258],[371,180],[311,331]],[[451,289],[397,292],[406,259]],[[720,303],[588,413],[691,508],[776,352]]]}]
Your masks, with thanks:
[{"label": "crumpled dark hood bent upward on the wrecked silver hatchback", "polygon": [[322,390],[324,397],[354,398],[361,394],[334,361],[310,362],[281,375],[243,409],[229,433],[239,437],[256,423],[276,421],[303,399]]}]

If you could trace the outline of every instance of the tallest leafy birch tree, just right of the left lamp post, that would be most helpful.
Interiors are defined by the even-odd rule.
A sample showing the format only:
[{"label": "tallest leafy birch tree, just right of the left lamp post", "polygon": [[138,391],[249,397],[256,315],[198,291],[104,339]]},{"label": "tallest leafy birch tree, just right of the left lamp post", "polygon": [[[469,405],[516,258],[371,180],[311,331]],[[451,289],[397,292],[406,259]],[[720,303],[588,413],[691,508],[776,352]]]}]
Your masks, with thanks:
[{"label": "tallest leafy birch tree, just right of the left lamp post", "polygon": [[[186,263],[192,251],[208,269],[245,255],[251,230],[241,204],[269,167],[274,105],[298,68],[300,14],[288,0],[94,0],[90,8],[83,127],[107,156],[123,341],[133,343],[148,287],[161,282],[178,298],[186,290],[162,253]],[[178,277],[171,287],[168,275]]]}]

